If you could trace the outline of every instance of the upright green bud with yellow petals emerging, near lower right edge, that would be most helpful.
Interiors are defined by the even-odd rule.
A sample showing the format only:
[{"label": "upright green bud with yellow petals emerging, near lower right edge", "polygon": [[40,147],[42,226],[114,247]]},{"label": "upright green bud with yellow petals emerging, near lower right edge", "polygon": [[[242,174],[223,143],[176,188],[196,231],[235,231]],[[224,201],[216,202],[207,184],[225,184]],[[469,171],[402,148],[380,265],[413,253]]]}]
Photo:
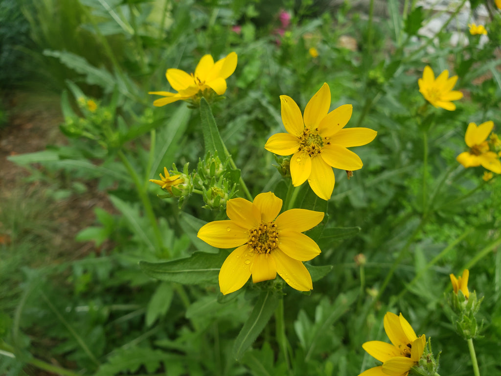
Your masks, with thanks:
[{"label": "upright green bud with yellow petals emerging, near lower right edge", "polygon": [[475,317],[483,297],[478,299],[475,291],[469,292],[468,277],[468,269],[461,277],[450,275],[453,291],[446,296],[448,305],[444,306],[455,330],[466,340],[478,337],[483,326],[483,321],[478,323]]}]

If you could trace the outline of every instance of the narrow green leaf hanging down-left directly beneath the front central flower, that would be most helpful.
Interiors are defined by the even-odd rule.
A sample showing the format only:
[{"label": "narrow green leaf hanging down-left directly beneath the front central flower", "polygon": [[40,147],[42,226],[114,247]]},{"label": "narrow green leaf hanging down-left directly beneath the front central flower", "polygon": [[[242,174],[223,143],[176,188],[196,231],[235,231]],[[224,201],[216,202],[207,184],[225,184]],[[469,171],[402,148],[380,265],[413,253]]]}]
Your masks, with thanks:
[{"label": "narrow green leaf hanging down-left directly beneath the front central flower", "polygon": [[258,335],[265,328],[279,304],[279,296],[271,291],[263,291],[250,312],[249,318],[243,324],[240,333],[235,339],[233,357],[238,360],[245,351],[254,343]]}]

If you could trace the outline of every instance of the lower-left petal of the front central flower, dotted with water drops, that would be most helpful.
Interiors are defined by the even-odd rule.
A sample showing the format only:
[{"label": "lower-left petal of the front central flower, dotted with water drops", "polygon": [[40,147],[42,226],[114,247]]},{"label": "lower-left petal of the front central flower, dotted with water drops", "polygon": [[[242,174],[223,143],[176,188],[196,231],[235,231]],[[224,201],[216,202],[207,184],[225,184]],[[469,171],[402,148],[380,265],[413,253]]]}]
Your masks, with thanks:
[{"label": "lower-left petal of the front central flower, dotted with water drops", "polygon": [[244,262],[247,245],[238,247],[224,260],[219,271],[219,289],[223,295],[238,290],[250,277],[249,265]]}]

